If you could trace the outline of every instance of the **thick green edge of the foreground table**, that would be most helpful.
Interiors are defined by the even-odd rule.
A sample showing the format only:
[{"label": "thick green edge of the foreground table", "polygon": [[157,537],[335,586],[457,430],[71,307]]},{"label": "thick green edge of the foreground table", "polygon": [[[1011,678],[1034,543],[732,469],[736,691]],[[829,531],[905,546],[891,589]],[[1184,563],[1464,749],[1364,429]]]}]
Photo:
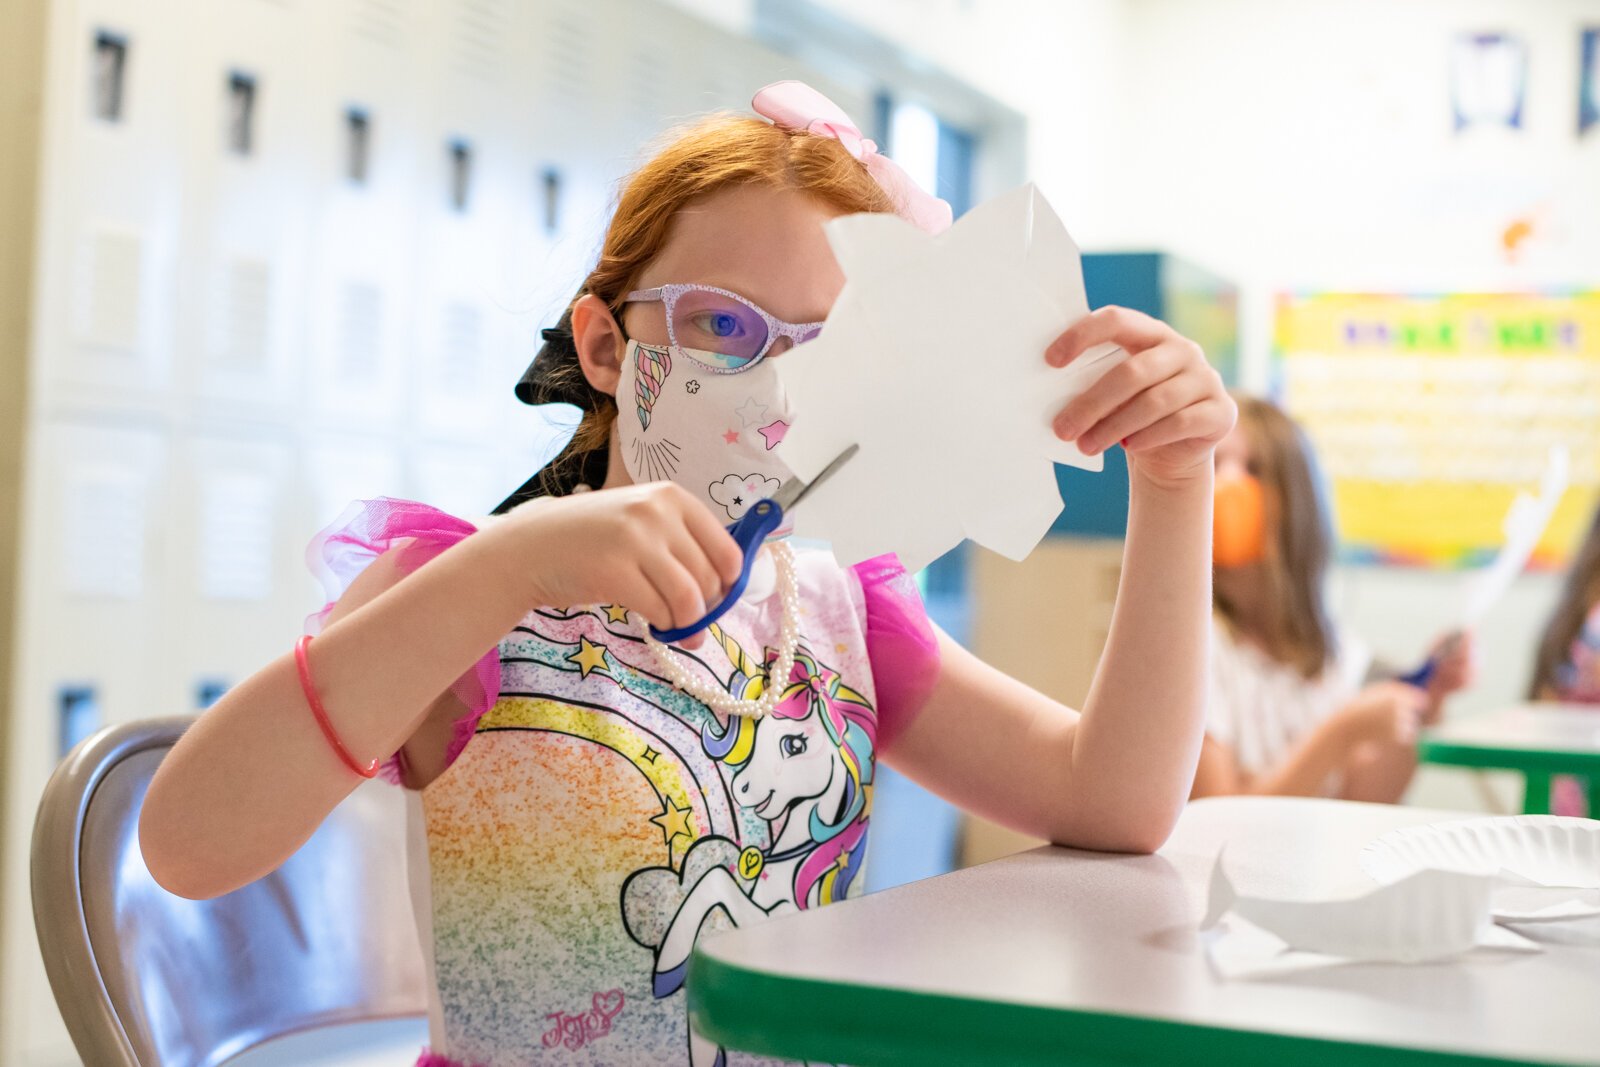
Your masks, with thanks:
[{"label": "thick green edge of the foreground table", "polygon": [[[1170,1062],[1347,1067],[1357,1057],[1363,1067],[1566,1062],[1366,1045],[786,977],[726,963],[702,949],[690,958],[688,1011],[694,1030],[725,1048],[854,1067],[952,1062],[1006,1067]],[[894,1025],[885,1027],[885,1019],[893,1019]]]}]

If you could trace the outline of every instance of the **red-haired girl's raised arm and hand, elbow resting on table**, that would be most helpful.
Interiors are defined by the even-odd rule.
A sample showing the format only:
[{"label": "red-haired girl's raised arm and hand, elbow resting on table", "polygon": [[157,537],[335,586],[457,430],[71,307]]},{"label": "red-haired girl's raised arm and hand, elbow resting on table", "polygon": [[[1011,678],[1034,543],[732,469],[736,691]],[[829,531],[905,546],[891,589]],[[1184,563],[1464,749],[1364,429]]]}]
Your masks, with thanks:
[{"label": "red-haired girl's raised arm and hand, elbow resting on table", "polygon": [[1205,720],[1213,450],[1235,408],[1200,347],[1120,307],[1051,344],[1062,366],[1104,342],[1130,358],[1056,416],[1086,454],[1122,442],[1128,539],[1083,712],[949,638],[933,696],[888,761],[957,803],[1061,845],[1152,851],[1189,797]]}]

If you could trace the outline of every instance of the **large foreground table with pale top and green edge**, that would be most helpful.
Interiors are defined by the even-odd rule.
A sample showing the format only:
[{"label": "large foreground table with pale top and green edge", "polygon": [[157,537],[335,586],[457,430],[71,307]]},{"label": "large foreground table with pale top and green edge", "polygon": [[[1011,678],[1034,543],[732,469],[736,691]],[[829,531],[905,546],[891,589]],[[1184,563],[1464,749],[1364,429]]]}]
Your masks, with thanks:
[{"label": "large foreground table with pale top and green edge", "polygon": [[1242,893],[1371,881],[1358,853],[1466,817],[1222,797],[1155,856],[1042,848],[706,937],[690,1011],[728,1048],[888,1064],[1600,1064],[1600,947],[1218,979],[1195,923],[1227,846]]}]

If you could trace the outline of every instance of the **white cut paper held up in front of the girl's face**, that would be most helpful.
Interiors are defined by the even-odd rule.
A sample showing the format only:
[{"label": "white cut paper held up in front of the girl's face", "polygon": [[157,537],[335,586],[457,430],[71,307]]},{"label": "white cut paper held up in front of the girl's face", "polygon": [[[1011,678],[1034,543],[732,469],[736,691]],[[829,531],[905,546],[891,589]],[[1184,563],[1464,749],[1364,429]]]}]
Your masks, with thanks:
[{"label": "white cut paper held up in front of the girl's face", "polygon": [[861,451],[795,509],[795,536],[845,566],[896,552],[917,571],[963,537],[1021,560],[1061,514],[1053,464],[1102,466],[1053,416],[1126,358],[1107,344],[1045,363],[1088,314],[1077,245],[1034,186],[938,237],[893,214],[827,237],[846,283],[805,358],[778,362],[795,411],[779,450],[802,478]]}]

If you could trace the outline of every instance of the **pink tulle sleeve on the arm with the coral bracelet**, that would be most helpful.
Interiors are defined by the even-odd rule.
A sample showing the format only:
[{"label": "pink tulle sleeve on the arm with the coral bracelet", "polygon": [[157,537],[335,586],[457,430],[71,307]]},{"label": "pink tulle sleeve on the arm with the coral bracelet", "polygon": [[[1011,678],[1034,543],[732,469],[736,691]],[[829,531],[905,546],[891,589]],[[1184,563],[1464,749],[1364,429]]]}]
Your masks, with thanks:
[{"label": "pink tulle sleeve on the arm with the coral bracelet", "polygon": [[[411,574],[472,533],[477,533],[477,526],[472,523],[427,504],[397,501],[387,496],[355,501],[331,526],[312,537],[306,549],[306,565],[322,582],[326,598],[322,611],[307,616],[306,632],[322,632],[333,605],[350,587],[355,576],[379,555],[397,550],[395,561],[402,574]],[[461,750],[467,747],[472,729],[499,699],[499,649],[493,648],[485,653],[483,659],[474,664],[467,673],[456,678],[450,691],[467,709],[467,713],[456,720],[450,749],[445,753],[446,766],[454,763]],[[400,784],[405,769],[400,760],[402,753],[397,752],[384,761],[381,769],[384,779]]]}]

